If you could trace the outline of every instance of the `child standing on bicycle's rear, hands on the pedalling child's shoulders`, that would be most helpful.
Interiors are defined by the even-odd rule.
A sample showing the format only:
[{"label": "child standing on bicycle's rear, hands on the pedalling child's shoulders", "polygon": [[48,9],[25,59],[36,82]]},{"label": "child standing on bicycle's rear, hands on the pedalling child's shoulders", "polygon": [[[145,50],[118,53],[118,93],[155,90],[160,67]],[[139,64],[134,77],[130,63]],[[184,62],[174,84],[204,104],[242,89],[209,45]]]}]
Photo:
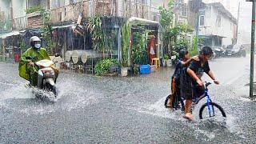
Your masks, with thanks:
[{"label": "child standing on bicycle's rear, hands on the pedalling child's shoulders", "polygon": [[193,60],[199,60],[198,57],[190,58],[190,54],[187,50],[183,49],[179,51],[179,60],[176,63],[174,74],[171,78],[171,94],[170,98],[166,104],[166,107],[174,108],[174,98],[181,98],[181,86],[180,86],[180,76],[184,67],[189,65],[189,62]]}]

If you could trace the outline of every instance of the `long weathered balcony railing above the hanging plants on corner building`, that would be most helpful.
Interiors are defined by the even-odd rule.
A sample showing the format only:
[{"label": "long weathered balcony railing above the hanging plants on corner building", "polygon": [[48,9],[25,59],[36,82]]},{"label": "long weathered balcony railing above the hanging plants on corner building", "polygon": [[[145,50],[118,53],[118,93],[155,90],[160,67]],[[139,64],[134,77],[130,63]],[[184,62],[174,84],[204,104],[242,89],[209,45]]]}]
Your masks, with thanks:
[{"label": "long weathered balcony railing above the hanging plants on corner building", "polygon": [[[121,2],[121,3],[120,3]],[[83,18],[98,16],[138,17],[158,21],[158,10],[142,3],[115,0],[87,0],[51,10],[51,22],[75,22],[79,14]]]}]

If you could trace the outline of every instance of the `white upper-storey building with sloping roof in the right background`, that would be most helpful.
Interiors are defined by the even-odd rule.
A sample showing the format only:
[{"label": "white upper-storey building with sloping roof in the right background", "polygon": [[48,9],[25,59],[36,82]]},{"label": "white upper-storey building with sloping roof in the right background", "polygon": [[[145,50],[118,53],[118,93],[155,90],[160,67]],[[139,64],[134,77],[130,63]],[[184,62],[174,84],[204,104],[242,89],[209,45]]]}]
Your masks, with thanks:
[{"label": "white upper-storey building with sloping roof in the right background", "polygon": [[199,10],[199,38],[205,46],[227,46],[236,42],[237,19],[220,3]]}]

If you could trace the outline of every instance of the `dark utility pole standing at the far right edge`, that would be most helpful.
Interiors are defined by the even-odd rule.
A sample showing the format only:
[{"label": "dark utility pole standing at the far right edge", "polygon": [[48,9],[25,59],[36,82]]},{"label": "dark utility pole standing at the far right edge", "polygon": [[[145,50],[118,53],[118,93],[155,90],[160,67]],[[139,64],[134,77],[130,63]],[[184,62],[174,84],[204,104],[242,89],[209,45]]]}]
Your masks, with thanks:
[{"label": "dark utility pole standing at the far right edge", "polygon": [[255,0],[246,0],[253,2],[251,18],[251,49],[250,49],[250,98],[254,97],[254,41],[255,41]]}]

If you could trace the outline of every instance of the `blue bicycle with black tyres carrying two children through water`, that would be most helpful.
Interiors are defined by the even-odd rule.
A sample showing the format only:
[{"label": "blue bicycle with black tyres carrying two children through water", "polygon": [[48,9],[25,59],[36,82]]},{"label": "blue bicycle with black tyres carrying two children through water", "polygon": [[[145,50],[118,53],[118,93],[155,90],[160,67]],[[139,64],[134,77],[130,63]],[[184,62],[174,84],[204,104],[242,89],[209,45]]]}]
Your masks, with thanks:
[{"label": "blue bicycle with black tyres carrying two children through water", "polygon": [[[199,110],[199,118],[202,119],[202,118],[209,118],[209,117],[214,117],[216,115],[222,115],[222,117],[226,117],[226,113],[225,111],[222,109],[222,106],[219,106],[217,103],[214,103],[212,102],[212,100],[210,99],[210,95],[208,94],[208,86],[210,86],[210,82],[205,82],[205,92],[204,94],[202,94],[201,97],[199,98],[195,98],[193,99],[193,103],[192,103],[192,106],[191,106],[191,113],[193,111],[193,108],[195,105],[198,104],[198,102],[200,102],[202,100],[202,98],[207,98],[206,99],[206,103],[203,104]],[[171,94],[168,95],[168,97],[166,98],[166,102],[165,102],[165,106],[167,104],[167,102],[169,101],[171,97]],[[175,110],[177,110],[179,107],[184,110],[184,99],[182,98],[178,98],[178,97],[175,97],[174,98],[174,105],[173,107],[175,108]],[[179,106],[179,105],[182,105],[182,106]]]}]

